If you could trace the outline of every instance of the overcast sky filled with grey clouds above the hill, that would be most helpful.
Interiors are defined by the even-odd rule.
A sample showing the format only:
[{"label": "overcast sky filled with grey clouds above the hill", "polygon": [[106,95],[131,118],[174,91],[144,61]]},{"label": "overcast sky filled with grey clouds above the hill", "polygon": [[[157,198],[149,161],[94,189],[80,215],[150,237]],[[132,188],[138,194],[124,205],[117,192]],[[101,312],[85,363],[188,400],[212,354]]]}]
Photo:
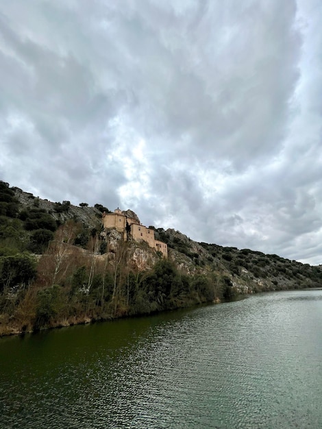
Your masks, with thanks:
[{"label": "overcast sky filled with grey clouds above the hill", "polygon": [[321,0],[0,0],[0,180],[322,264]]}]

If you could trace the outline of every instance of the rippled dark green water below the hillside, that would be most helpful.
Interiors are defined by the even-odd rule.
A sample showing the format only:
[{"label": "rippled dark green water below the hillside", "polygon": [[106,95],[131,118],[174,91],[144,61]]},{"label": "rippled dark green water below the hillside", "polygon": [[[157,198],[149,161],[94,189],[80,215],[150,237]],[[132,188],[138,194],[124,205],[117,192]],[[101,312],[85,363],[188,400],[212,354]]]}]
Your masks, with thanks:
[{"label": "rippled dark green water below the hillside", "polygon": [[0,428],[322,428],[322,291],[0,339]]}]

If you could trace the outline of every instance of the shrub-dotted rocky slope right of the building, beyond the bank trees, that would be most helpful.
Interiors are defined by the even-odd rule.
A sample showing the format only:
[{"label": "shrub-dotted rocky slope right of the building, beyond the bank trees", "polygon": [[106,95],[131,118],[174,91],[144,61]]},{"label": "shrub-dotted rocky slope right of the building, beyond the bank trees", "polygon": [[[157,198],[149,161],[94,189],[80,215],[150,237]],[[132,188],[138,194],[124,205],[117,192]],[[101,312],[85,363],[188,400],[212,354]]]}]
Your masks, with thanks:
[{"label": "shrub-dotted rocky slope right of the building, beyond the bank trees", "polygon": [[175,230],[159,230],[160,239],[172,249],[171,258],[194,273],[221,273],[237,293],[322,286],[322,267],[302,264],[251,249],[195,243]]}]

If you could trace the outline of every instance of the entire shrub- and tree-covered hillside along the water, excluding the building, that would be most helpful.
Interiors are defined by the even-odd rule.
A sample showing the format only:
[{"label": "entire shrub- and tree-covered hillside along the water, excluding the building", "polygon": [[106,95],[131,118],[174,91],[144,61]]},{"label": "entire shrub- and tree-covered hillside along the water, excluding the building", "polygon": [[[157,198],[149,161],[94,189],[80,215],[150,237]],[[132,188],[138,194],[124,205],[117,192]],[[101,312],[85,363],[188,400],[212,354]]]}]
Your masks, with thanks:
[{"label": "entire shrub- and tree-covered hillside along the water, excluding the building", "polygon": [[102,231],[104,211],[0,182],[0,334],[321,286],[321,266],[150,226],[168,245],[166,260],[145,242]]}]

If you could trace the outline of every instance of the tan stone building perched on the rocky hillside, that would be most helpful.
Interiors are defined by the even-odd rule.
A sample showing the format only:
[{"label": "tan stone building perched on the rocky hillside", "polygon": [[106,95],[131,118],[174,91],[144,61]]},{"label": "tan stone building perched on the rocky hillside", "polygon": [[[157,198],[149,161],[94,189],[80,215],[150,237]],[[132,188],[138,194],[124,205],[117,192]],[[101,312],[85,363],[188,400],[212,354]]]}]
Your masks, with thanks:
[{"label": "tan stone building perched on the rocky hillside", "polygon": [[116,208],[114,213],[103,212],[102,225],[106,230],[121,232],[124,241],[130,237],[138,242],[145,241],[150,247],[161,252],[165,258],[168,257],[168,246],[162,241],[156,240],[154,230],[141,225],[140,220],[131,210],[124,212]]}]

